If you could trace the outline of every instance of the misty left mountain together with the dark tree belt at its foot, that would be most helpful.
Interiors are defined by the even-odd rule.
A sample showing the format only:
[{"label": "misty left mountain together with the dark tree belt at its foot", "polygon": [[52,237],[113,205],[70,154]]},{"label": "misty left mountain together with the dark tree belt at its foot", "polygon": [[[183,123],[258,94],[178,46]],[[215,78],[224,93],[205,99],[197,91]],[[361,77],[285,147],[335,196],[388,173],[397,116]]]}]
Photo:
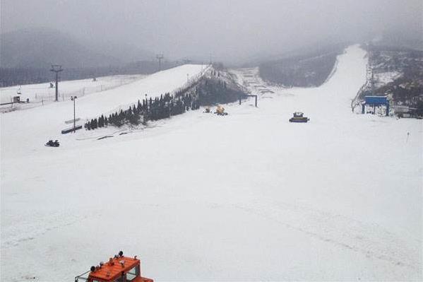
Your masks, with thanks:
[{"label": "misty left mountain together with the dark tree belt at its foot", "polygon": [[[1,35],[0,86],[13,86],[52,81],[49,71],[52,64],[61,64],[61,80],[93,78],[116,74],[152,74],[158,70],[158,63],[149,53],[141,52],[138,57],[149,58],[126,62],[119,49],[111,55],[95,52],[85,47],[72,36],[58,30],[30,28]],[[127,48],[121,46],[122,52]],[[136,52],[136,49],[132,50]],[[110,53],[110,52],[109,52]],[[135,58],[135,57],[134,57]],[[178,66],[178,61],[162,61],[162,69]]]}]

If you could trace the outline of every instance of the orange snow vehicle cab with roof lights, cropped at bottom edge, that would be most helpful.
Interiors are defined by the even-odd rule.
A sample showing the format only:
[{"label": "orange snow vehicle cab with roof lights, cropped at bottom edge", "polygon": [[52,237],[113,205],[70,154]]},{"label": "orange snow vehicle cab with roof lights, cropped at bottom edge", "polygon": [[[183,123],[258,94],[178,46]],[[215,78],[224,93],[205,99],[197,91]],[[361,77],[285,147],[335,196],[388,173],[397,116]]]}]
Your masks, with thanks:
[{"label": "orange snow vehicle cab with roof lights, cropped at bottom edge", "polygon": [[75,282],[153,282],[153,279],[141,276],[141,262],[136,256],[124,257],[120,251],[109,262],[100,262],[76,276]]}]

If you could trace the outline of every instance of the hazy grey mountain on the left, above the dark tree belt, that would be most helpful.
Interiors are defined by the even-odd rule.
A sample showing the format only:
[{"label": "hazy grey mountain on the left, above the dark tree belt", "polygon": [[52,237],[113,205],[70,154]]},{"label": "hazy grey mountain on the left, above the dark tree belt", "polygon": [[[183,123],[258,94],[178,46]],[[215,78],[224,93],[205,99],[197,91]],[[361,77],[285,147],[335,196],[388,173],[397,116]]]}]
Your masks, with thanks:
[{"label": "hazy grey mountain on the left, above the dark tree belt", "polygon": [[[16,30],[0,36],[2,68],[48,68],[51,64],[62,64],[66,68],[92,68],[120,66],[130,59],[127,54],[131,47],[111,47],[108,44],[100,48],[98,44],[84,44],[71,35],[47,28]],[[137,51],[133,50],[131,54]],[[141,57],[150,56],[147,52],[138,53]],[[119,54],[126,56],[121,59]]]}]

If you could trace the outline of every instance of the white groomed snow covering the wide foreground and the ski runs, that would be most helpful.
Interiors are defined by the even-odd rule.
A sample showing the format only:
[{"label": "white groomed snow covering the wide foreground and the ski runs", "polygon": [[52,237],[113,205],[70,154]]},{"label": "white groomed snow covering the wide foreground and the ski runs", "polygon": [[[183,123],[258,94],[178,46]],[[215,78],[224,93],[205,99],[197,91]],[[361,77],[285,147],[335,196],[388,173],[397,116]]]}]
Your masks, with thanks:
[{"label": "white groomed snow covering the wide foreground and the ski runs", "polygon": [[[102,140],[117,129],[59,134],[71,102],[1,114],[1,281],[73,281],[120,249],[155,281],[421,281],[423,124],[351,112],[366,63],[352,46],[319,88]],[[77,116],[201,69],[88,95]]]}]

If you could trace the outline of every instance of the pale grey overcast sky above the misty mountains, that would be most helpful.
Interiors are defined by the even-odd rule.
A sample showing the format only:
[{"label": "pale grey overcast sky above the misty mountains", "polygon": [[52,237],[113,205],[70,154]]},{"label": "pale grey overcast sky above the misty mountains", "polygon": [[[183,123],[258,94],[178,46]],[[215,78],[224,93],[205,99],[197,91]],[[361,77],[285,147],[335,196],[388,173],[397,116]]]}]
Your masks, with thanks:
[{"label": "pale grey overcast sky above the misty mountains", "polygon": [[422,0],[0,0],[1,32],[48,27],[167,57],[244,58],[385,32],[422,37]]}]

